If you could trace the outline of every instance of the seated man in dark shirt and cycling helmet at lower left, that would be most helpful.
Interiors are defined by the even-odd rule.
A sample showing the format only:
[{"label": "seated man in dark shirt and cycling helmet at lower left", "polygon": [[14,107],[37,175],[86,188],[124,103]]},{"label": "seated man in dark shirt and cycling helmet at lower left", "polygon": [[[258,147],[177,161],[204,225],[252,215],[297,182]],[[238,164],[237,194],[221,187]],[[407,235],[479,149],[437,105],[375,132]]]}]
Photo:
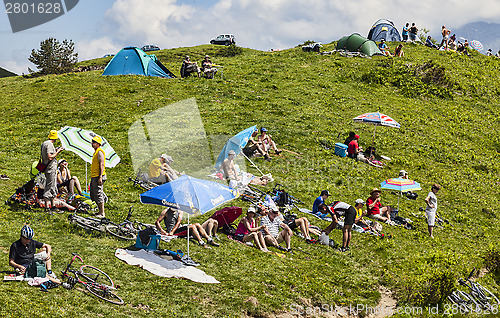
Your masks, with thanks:
[{"label": "seated man in dark shirt and cycling helmet at lower left", "polygon": [[[26,277],[33,272],[36,272],[36,260],[45,263],[47,275],[51,278],[56,278],[56,274],[52,272],[52,262],[50,260],[50,253],[52,247],[45,243],[35,241],[33,237],[35,232],[29,225],[24,225],[21,229],[21,237],[19,240],[12,243],[9,251],[9,265],[14,267],[16,272]],[[39,252],[36,253],[36,250]]]}]

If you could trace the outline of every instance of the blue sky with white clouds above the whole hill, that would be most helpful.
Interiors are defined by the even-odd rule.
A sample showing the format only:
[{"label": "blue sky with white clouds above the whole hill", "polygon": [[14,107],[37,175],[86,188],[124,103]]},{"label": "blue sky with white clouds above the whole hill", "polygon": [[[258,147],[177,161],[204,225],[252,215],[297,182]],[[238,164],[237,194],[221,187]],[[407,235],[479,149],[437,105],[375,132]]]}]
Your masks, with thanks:
[{"label": "blue sky with white clouds above the whole hill", "polygon": [[222,33],[234,34],[238,46],[267,51],[306,40],[329,43],[355,32],[367,36],[381,18],[393,21],[400,31],[405,23],[415,22],[440,40],[443,24],[453,31],[471,22],[498,23],[500,1],[80,0],[64,15],[16,33],[4,6],[0,67],[17,74],[36,69],[28,57],[49,37],[72,40],[79,60],[114,54],[125,46],[208,44]]}]

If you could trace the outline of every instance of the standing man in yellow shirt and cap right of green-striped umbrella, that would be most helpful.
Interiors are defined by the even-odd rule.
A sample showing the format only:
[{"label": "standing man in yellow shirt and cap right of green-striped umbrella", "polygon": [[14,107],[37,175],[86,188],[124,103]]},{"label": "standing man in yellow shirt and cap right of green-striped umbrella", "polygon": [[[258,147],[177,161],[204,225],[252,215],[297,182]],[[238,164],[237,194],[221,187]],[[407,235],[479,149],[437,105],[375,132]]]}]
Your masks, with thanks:
[{"label": "standing man in yellow shirt and cap right of green-striped umbrella", "polygon": [[99,136],[92,138],[92,148],[94,148],[94,156],[92,157],[92,164],[90,165],[90,199],[97,203],[99,212],[97,217],[103,218],[104,215],[104,201],[106,195],[103,191],[103,183],[106,181],[106,168],[105,159],[106,154],[101,148],[102,139]]}]

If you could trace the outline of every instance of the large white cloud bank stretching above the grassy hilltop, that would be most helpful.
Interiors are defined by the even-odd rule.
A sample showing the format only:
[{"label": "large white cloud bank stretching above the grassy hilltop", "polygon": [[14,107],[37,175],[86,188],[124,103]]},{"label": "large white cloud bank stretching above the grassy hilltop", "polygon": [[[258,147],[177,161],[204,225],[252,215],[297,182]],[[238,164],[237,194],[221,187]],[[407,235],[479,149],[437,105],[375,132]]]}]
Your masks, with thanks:
[{"label": "large white cloud bank stretching above the grassy hilltop", "polygon": [[[238,45],[256,49],[287,48],[305,40],[330,42],[343,35],[368,34],[380,18],[398,29],[415,22],[438,34],[474,21],[500,18],[500,2],[483,0],[220,0],[212,6],[177,0],[117,0],[106,16],[119,41],[162,48],[208,43],[219,33],[233,33]],[[132,43],[130,43],[132,44]]]}]

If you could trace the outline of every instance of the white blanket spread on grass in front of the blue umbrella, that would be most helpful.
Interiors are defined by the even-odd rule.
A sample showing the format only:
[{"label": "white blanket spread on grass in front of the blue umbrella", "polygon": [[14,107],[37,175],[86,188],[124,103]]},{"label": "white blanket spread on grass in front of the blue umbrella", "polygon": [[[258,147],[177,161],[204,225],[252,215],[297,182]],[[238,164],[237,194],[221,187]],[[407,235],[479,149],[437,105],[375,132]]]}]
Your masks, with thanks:
[{"label": "white blanket spread on grass in front of the blue umbrella", "polygon": [[185,278],[196,283],[220,283],[213,276],[193,266],[187,266],[176,260],[166,260],[154,252],[117,249],[115,256],[129,265],[139,266],[148,272],[161,277]]}]

